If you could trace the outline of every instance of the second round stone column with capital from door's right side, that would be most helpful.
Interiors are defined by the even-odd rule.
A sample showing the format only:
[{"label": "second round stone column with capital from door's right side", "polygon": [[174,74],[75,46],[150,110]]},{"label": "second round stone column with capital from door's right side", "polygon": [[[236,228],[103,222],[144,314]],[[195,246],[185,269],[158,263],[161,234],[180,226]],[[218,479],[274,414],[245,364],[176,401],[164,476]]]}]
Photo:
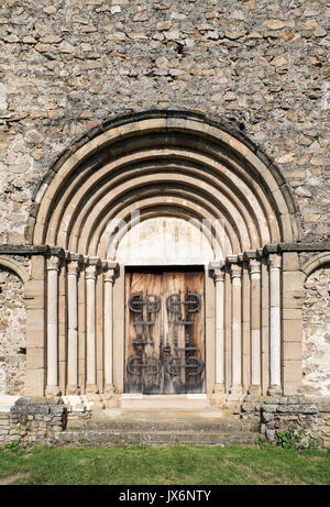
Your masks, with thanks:
[{"label": "second round stone column with capital from door's right side", "polygon": [[242,395],[242,267],[231,265],[232,322],[231,322],[231,400]]}]

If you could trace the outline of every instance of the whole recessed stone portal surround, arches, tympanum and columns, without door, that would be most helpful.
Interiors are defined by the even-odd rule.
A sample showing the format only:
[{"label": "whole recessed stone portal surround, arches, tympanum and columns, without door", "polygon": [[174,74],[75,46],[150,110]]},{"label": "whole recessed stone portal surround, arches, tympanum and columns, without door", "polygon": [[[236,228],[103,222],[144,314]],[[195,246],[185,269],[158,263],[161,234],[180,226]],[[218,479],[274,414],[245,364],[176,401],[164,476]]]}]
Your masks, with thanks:
[{"label": "whole recessed stone portal surround, arches, tympanum and columns, without door", "polygon": [[[33,209],[30,242],[59,252],[44,261],[46,328],[41,332],[44,348],[55,351],[42,365],[46,392],[87,393],[105,404],[122,390],[122,274],[129,264],[211,268],[215,282],[206,284],[207,393],[234,398],[249,389],[280,388],[280,337],[274,334],[274,327],[280,329],[280,305],[271,288],[279,283],[280,256],[272,254],[276,258],[268,263],[263,249],[299,240],[299,225],[279,172],[252,143],[194,113],[111,120],[55,164],[35,192]],[[221,273],[223,291],[217,288]],[[263,321],[252,316],[250,296],[243,298],[255,279],[264,296],[273,298]],[[237,326],[230,297],[238,290],[239,349],[235,339],[221,339],[222,330]],[[256,297],[262,310],[263,294],[257,290]],[[112,299],[109,316],[105,300]],[[216,312],[226,305],[231,309],[223,311],[219,330]],[[270,353],[262,355],[266,342]]]}]

